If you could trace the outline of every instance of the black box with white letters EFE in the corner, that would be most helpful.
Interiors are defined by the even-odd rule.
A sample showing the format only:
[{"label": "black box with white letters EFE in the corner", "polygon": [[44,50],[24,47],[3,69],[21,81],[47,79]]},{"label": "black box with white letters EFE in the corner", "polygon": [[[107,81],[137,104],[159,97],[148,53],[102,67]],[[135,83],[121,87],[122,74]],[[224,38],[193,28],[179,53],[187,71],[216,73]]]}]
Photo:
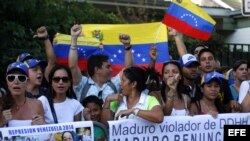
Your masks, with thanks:
[{"label": "black box with white letters EFE in the corner", "polygon": [[224,141],[249,141],[250,125],[224,125]]}]

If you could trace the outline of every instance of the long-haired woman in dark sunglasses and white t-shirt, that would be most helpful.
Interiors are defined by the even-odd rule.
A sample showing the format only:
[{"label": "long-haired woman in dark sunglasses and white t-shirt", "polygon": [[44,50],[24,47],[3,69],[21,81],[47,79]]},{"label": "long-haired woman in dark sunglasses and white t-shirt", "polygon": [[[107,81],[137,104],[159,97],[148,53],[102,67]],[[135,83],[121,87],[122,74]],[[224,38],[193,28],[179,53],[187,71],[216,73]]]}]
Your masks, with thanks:
[{"label": "long-haired woman in dark sunglasses and white t-shirt", "polygon": [[[40,97],[44,104],[50,104],[51,109],[46,117],[46,123],[62,123],[81,120],[83,106],[76,100],[72,88],[72,74],[65,65],[56,65],[49,74],[48,100]],[[47,106],[49,107],[49,106]]]}]

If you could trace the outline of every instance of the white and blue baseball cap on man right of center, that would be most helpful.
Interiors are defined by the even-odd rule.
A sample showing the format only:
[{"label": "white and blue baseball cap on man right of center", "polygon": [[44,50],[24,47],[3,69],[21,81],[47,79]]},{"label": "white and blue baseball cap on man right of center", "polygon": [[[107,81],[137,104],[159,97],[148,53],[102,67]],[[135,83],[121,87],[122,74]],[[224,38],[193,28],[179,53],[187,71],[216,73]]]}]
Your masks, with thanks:
[{"label": "white and blue baseball cap on man right of center", "polygon": [[182,67],[187,67],[193,63],[199,65],[198,60],[192,54],[184,54],[183,56],[180,57],[179,62]]}]

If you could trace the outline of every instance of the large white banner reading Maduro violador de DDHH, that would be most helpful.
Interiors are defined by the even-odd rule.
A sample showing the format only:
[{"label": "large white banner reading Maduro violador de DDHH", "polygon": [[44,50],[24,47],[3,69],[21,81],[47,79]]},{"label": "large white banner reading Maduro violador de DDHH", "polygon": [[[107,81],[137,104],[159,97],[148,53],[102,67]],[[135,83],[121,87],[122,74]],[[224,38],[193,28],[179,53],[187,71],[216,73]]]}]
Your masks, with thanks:
[{"label": "large white banner reading Maduro violador de DDHH", "polygon": [[223,141],[224,125],[250,125],[250,113],[165,116],[161,124],[145,120],[109,121],[110,141]]}]

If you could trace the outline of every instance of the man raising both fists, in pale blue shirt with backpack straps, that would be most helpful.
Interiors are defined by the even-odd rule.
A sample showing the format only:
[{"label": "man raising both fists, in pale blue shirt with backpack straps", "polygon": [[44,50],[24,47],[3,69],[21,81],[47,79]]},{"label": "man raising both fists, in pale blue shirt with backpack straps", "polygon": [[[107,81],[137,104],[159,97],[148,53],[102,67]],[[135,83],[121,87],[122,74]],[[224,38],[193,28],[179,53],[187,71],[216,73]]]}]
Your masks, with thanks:
[{"label": "man raising both fists, in pale blue shirt with backpack straps", "polygon": [[[89,77],[83,76],[78,66],[78,48],[77,38],[82,31],[81,25],[74,25],[71,28],[71,47],[69,51],[69,67],[73,75],[74,92],[77,100],[81,101],[84,97],[89,95],[96,95],[103,101],[108,95],[118,92],[120,89],[120,76],[122,71],[111,78],[111,65],[107,55],[95,54],[88,59],[88,74]],[[130,36],[126,34],[119,35],[120,42],[124,45],[125,52],[125,68],[133,64]],[[115,89],[110,85],[115,86]],[[89,85],[87,92],[83,89]]]}]

